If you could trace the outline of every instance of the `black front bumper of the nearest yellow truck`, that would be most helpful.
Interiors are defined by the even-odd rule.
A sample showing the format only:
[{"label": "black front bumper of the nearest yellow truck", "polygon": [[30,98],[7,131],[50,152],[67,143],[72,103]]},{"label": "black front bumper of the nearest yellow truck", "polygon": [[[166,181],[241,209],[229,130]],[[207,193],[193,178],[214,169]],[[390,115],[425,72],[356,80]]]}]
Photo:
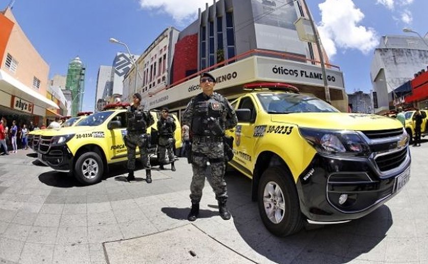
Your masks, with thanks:
[{"label": "black front bumper of the nearest yellow truck", "polygon": [[[398,154],[397,154],[398,155]],[[396,168],[380,172],[368,158],[316,154],[297,181],[302,213],[313,222],[361,218],[396,195],[410,178],[410,150]]]}]

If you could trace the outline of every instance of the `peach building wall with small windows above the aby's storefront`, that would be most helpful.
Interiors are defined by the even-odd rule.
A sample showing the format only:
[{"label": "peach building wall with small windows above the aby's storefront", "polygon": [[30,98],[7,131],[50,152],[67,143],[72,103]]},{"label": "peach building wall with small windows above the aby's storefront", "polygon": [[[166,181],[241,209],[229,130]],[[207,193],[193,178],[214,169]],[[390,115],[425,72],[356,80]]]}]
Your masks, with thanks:
[{"label": "peach building wall with small windows above the aby's storefront", "polygon": [[[49,66],[33,47],[30,40],[25,36],[10,9],[5,11],[5,17],[14,23],[9,41],[6,45],[0,69],[12,75],[16,80],[28,87],[33,87],[34,77],[40,80],[40,88],[34,88],[37,92],[46,95],[48,84]],[[3,30],[3,27],[2,27]],[[13,73],[5,66],[7,54],[17,60],[18,66]]]}]

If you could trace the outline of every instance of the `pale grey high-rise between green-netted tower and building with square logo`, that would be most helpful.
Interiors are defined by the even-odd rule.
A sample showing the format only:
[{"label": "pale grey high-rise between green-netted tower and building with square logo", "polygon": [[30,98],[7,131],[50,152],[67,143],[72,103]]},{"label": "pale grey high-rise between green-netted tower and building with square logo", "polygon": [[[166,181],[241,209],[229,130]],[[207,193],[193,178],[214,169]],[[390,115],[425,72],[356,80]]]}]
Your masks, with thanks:
[{"label": "pale grey high-rise between green-netted tower and building with square logo", "polygon": [[109,96],[113,87],[112,66],[101,65],[98,69],[97,88],[95,92],[95,106],[98,111],[106,105],[105,98]]}]

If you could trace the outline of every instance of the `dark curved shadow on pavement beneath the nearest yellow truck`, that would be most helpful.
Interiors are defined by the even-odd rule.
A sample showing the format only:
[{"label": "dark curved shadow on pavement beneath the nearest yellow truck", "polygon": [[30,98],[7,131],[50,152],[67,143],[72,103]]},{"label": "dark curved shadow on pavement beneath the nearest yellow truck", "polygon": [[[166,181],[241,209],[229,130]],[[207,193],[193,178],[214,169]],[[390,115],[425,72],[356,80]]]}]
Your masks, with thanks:
[{"label": "dark curved shadow on pavement beneath the nearest yellow truck", "polygon": [[295,235],[275,237],[264,227],[257,203],[248,203],[251,180],[237,172],[226,175],[237,232],[253,250],[277,263],[346,263],[376,247],[392,225],[391,212],[383,205],[351,222],[324,227],[308,224]]}]

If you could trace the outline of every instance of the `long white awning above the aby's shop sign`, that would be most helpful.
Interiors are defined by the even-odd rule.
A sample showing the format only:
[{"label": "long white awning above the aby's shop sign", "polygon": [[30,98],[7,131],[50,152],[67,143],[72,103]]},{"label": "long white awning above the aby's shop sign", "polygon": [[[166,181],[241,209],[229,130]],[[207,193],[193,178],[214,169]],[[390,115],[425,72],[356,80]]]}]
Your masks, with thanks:
[{"label": "long white awning above the aby's shop sign", "polygon": [[3,70],[0,70],[0,90],[8,94],[18,96],[28,102],[32,102],[34,105],[44,109],[60,109],[57,104],[53,103],[51,100],[33,90],[32,88],[16,80],[14,77]]}]

